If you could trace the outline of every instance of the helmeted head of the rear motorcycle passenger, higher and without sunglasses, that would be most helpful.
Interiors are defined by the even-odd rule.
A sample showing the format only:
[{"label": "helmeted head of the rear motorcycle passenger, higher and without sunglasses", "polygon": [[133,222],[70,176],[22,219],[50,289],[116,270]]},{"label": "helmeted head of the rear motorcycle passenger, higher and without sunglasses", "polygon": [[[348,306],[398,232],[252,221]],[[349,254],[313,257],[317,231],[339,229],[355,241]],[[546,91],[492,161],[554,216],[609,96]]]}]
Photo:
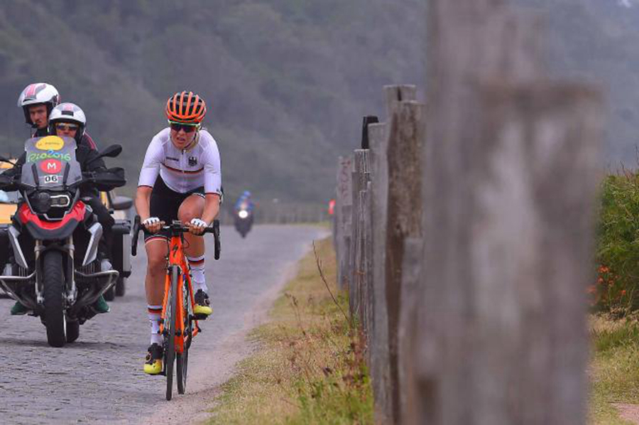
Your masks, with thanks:
[{"label": "helmeted head of the rear motorcycle passenger, higher and without sunglasses", "polygon": [[60,103],[60,94],[53,85],[34,82],[22,90],[18,97],[18,107],[24,112],[24,120],[35,129],[31,137],[48,134],[49,114]]}]

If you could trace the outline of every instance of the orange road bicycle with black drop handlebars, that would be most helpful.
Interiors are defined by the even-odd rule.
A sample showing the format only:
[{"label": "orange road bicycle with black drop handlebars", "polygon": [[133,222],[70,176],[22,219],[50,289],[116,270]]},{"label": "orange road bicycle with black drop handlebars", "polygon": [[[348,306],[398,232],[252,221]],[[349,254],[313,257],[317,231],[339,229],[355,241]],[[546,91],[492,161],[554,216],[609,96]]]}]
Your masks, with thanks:
[{"label": "orange road bicycle with black drop handlebars", "polygon": [[[180,221],[173,221],[171,225],[163,226],[168,230],[168,258],[166,277],[164,282],[164,299],[160,316],[160,334],[163,335],[164,370],[161,375],[166,376],[166,399],[173,397],[173,365],[177,365],[176,378],[178,380],[178,394],[184,394],[187,382],[187,368],[189,362],[189,348],[195,335],[202,330],[193,313],[195,298],[191,286],[191,274],[187,257],[184,253],[184,234],[189,228]],[[133,241],[131,254],[137,254],[138,232],[141,230],[140,217],[136,216],[133,225]],[[204,230],[212,233],[215,240],[214,258],[219,259],[219,221]]]}]

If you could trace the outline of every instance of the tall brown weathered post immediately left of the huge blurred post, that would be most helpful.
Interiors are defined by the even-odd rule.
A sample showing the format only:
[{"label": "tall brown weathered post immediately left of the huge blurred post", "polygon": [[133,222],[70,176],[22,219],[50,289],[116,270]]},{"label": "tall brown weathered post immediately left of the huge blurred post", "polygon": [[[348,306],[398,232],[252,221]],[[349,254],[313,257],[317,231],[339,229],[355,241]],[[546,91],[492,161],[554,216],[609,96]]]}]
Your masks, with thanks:
[{"label": "tall brown weathered post immediately left of the huge blurred post", "polygon": [[413,101],[391,102],[387,151],[386,306],[392,409],[386,414],[388,419],[398,422],[400,387],[397,344],[404,240],[406,237],[422,236],[422,146],[426,117],[423,104]]}]

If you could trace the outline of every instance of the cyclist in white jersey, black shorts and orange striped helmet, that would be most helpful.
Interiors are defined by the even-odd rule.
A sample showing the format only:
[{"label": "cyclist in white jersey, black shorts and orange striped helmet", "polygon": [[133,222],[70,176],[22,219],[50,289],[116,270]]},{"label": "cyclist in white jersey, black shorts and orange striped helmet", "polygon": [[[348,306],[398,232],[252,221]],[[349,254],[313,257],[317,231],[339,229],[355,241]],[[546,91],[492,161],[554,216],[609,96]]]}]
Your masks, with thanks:
[{"label": "cyclist in white jersey, black shorts and orange striped helmet", "polygon": [[207,113],[204,99],[193,92],[177,92],[166,102],[169,127],[155,134],[148,145],[136,194],[136,209],[145,230],[148,257],[146,299],[151,322],[151,345],[144,372],[162,372],[160,313],[164,296],[168,233],[161,222],[180,220],[190,228],[185,235],[195,291],[194,313],[209,316],[212,309],[204,279],[204,238],[222,202],[222,172],[217,143],[202,129]]}]

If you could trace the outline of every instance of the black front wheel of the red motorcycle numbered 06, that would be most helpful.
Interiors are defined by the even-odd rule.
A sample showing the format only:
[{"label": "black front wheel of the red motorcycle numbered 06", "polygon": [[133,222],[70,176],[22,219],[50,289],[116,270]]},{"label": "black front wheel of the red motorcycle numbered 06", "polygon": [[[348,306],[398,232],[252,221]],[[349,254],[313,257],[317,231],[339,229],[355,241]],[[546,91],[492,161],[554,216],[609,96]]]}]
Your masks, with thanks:
[{"label": "black front wheel of the red motorcycle numbered 06", "polygon": [[62,253],[45,252],[43,259],[44,319],[47,342],[52,347],[62,347],[67,342],[65,319],[65,274],[62,269]]}]

